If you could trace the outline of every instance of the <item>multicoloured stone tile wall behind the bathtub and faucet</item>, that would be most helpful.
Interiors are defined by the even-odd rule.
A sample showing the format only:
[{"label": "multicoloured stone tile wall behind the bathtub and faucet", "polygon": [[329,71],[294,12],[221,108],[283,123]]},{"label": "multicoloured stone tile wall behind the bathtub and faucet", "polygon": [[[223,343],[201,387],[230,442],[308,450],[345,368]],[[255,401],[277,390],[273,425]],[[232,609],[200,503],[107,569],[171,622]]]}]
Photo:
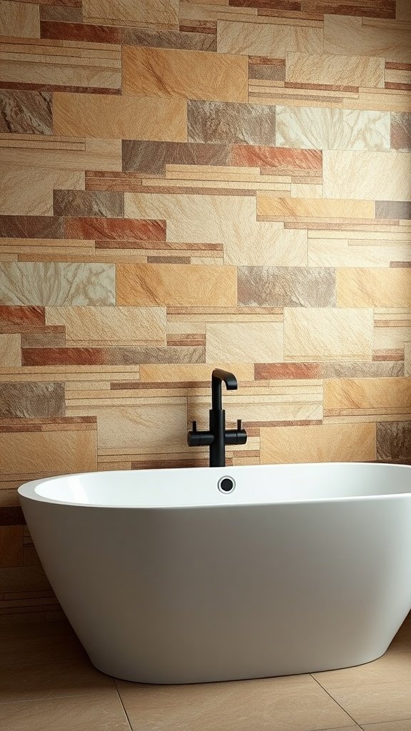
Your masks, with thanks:
[{"label": "multicoloured stone tile wall behind the bathtub and faucet", "polygon": [[[1,621],[58,610],[16,489],[411,463],[408,0],[0,1]],[[161,425],[161,428],[160,428]]]}]

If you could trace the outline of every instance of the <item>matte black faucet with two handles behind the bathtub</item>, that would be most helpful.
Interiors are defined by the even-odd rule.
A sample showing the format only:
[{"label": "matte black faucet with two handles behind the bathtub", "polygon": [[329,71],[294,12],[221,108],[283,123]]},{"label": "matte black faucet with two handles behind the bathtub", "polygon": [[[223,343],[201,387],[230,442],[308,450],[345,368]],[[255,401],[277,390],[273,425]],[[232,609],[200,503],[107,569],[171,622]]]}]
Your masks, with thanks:
[{"label": "matte black faucet with two handles behind the bathtub", "polygon": [[235,375],[215,368],[211,374],[210,428],[208,431],[197,431],[197,422],[193,421],[192,431],[187,434],[189,447],[210,447],[210,467],[225,467],[226,444],[245,444],[247,441],[246,430],[241,428],[241,419],[237,420],[236,429],[225,428],[225,410],[222,409],[223,381],[227,391],[237,390]]}]

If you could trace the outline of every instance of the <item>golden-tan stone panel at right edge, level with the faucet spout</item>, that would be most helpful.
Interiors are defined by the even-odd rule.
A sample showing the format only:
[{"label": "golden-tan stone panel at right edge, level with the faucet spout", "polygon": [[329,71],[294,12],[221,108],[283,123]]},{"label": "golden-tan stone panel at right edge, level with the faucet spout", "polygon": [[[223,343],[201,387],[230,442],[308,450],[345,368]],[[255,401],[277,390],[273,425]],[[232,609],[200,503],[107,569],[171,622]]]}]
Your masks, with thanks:
[{"label": "golden-tan stone panel at right edge, level with the faucet spout", "polygon": [[324,382],[324,409],[411,409],[409,378],[342,378]]}]

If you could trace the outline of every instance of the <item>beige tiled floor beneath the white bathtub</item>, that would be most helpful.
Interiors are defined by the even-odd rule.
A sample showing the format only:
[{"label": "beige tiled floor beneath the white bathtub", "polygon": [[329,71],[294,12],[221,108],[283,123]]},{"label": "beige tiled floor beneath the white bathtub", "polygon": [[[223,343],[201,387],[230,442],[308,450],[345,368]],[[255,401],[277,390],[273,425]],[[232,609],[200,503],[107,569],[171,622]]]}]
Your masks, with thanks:
[{"label": "beige tiled floor beneath the white bathtub", "polygon": [[99,673],[63,621],[0,629],[5,731],[411,731],[411,615],[380,659],[186,686]]}]

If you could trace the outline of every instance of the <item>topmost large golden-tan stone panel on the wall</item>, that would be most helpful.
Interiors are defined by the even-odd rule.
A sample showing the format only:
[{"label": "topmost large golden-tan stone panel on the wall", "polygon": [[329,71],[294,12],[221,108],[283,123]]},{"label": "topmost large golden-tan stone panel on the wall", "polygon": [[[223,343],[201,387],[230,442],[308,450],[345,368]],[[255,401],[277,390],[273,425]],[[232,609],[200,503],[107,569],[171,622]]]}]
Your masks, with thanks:
[{"label": "topmost large golden-tan stone panel on the wall", "polygon": [[185,142],[186,102],[184,99],[56,93],[53,123],[55,135]]}]

